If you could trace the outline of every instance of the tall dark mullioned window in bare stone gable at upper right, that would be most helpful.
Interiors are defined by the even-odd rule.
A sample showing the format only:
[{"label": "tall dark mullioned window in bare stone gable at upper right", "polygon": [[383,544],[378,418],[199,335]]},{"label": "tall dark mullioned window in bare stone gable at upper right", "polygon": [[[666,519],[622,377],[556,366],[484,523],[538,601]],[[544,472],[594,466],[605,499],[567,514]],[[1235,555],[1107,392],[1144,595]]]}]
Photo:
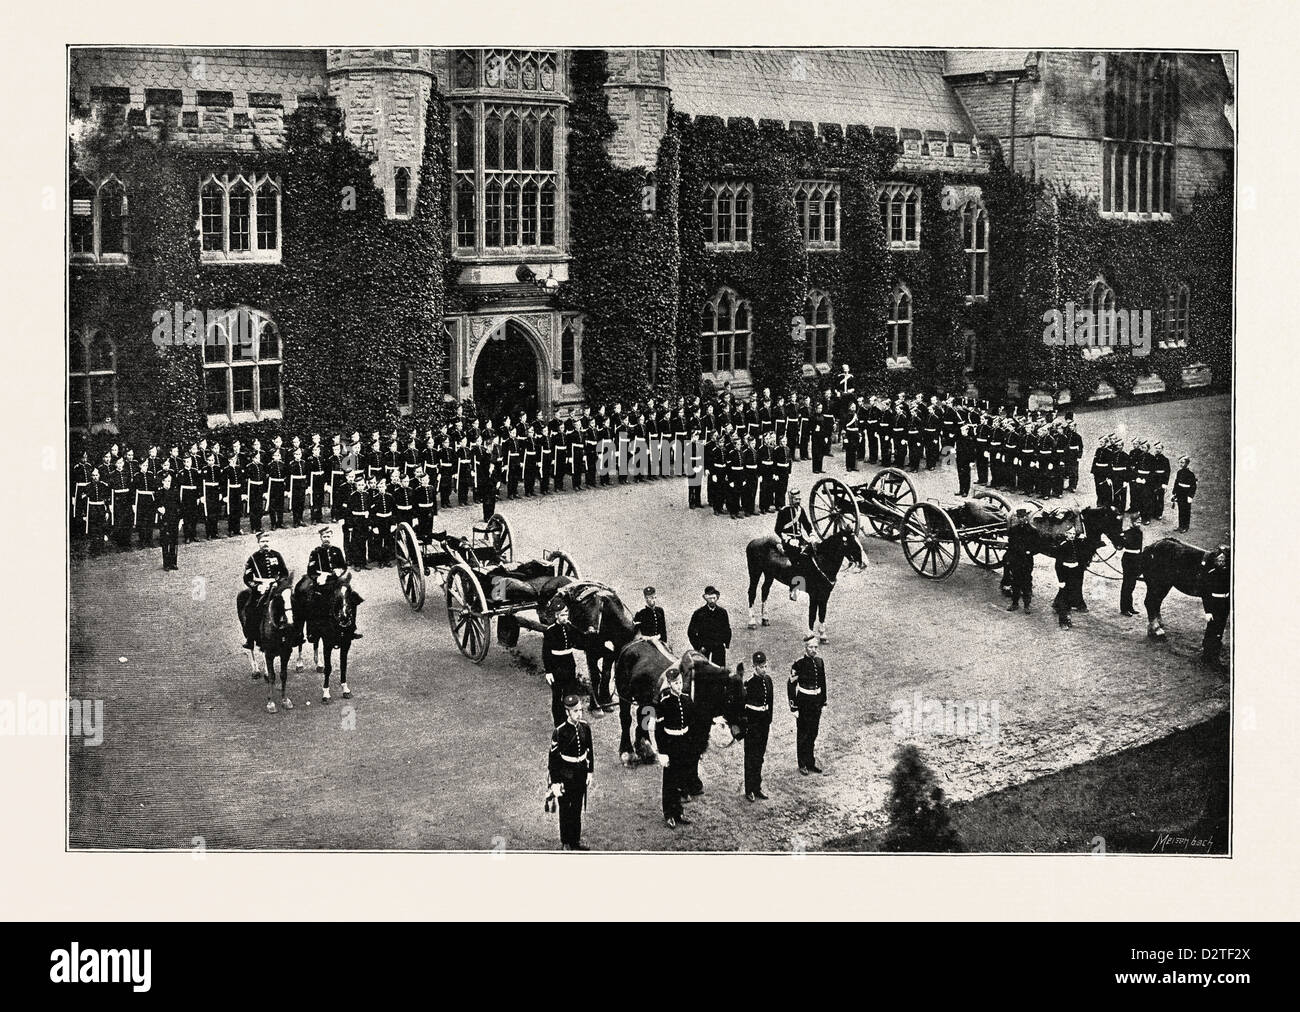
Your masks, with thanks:
[{"label": "tall dark mullioned window in bare stone gable at upper right", "polygon": [[1173,215],[1176,125],[1178,57],[1108,53],[1102,213]]}]

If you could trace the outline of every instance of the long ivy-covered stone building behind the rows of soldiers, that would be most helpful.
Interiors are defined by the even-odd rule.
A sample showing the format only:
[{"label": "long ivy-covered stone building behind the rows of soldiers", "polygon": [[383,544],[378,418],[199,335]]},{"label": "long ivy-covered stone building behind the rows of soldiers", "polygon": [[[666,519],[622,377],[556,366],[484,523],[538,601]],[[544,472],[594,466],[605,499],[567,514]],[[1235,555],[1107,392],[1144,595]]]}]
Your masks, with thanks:
[{"label": "long ivy-covered stone building behind the rows of soldiers", "polygon": [[[1228,381],[1231,55],[70,55],[74,434]],[[1150,310],[1150,354],[1045,313]]]}]

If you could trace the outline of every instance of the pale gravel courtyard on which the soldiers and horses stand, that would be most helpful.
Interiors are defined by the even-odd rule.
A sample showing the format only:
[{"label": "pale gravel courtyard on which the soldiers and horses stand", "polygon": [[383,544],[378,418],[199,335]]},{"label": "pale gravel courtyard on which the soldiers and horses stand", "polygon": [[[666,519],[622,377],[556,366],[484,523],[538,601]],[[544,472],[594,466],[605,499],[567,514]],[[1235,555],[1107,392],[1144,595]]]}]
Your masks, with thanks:
[{"label": "pale gravel courtyard on which the soldiers and horses stand", "polygon": [[[1191,544],[1227,539],[1231,509],[1231,405],[1227,397],[1082,412],[1087,446],[1079,501],[1092,502],[1087,466],[1100,434],[1164,440],[1175,463],[1193,458],[1200,481]],[[842,475],[844,455],[827,462]],[[855,481],[866,481],[866,467]],[[922,497],[953,498],[952,467],[918,477]],[[807,463],[792,486],[811,488]],[[1014,498],[1014,497],[1013,497]],[[1062,501],[1069,505],[1067,496]],[[654,584],[672,645],[681,650],[705,584],[723,592],[736,630],[731,661],[768,653],[779,695],[801,649],[805,605],[775,587],[767,628],[745,628],[745,542],[772,518],[740,522],[686,510],[677,480],[502,501],[516,558],[563,548],[584,576],[616,587],[633,610]],[[438,524],[468,533],[477,507]],[[1148,544],[1175,518],[1147,529]],[[315,529],[277,532],[274,546],[300,574]],[[945,581],[916,576],[897,544],[867,539],[868,566],[845,575],[831,600],[824,648],[829,708],[818,744],[823,777],[800,777],[793,715],[780,708],[764,784],[771,800],[741,793],[742,749],[712,748],[701,764],[706,795],[693,825],[667,829],[659,771],[618,761],[618,714],[592,718],[597,788],[584,821],[594,849],[815,849],[881,819],[896,734],[896,704],[971,701],[994,714],[974,734],[915,739],[949,796],[961,800],[1160,739],[1227,708],[1219,675],[1193,654],[1199,601],[1165,604],[1166,644],[1145,620],[1122,618],[1119,584],[1089,575],[1091,610],[1061,631],[1048,605],[1054,576],[1035,572],[1034,614],[1008,614],[996,574],[962,558]],[[359,572],[365,639],[351,657],[355,699],[320,704],[320,680],[291,672],[292,712],[265,713],[265,686],[248,678],[234,597],[254,540],[181,546],[181,571],[164,572],[157,549],[98,559],[70,571],[70,695],[101,699],[104,741],[70,751],[74,848],[556,849],[554,816],[542,810],[550,695],[538,672],[541,637],[519,649],[493,643],[481,666],[452,644],[433,580],[413,613],[395,568]],[[1140,606],[1141,588],[1138,592]],[[1232,626],[1228,624],[1228,646]],[[308,708],[306,704],[311,702]]]}]

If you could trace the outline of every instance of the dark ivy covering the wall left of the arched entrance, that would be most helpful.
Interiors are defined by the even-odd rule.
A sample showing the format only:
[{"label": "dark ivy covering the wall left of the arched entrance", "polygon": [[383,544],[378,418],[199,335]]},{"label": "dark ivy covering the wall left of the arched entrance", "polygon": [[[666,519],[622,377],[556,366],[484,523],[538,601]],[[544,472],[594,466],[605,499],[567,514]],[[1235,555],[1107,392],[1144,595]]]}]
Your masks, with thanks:
[{"label": "dark ivy covering the wall left of the arched entrance", "polygon": [[[188,445],[208,429],[202,347],[160,349],[151,338],[153,312],[178,302],[186,310],[247,306],[281,334],[282,420],[222,425],[224,440],[247,444],[277,429],[391,431],[403,362],[415,376],[402,428],[441,421],[450,170],[437,90],[410,219],[385,216],[372,156],[344,137],[333,105],[300,105],[286,116],[281,150],[238,155],[181,148],[165,133],[144,137],[121,124],[83,126],[73,174],[117,173],[130,196],[130,265],[70,269],[72,328],[98,326],[116,343],[113,421],[122,438],[136,446]],[[199,187],[208,173],[222,172],[280,177],[281,263],[200,263]],[[112,438],[90,441],[98,449]]]}]

